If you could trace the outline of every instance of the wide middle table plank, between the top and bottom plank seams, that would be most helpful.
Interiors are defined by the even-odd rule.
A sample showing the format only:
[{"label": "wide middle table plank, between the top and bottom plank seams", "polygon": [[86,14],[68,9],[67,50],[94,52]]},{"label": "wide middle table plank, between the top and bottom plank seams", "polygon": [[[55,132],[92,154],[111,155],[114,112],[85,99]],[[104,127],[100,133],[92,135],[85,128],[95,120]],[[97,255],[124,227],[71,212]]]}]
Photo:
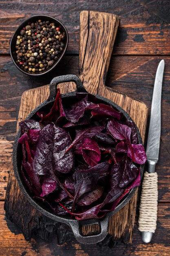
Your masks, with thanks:
[{"label": "wide middle table plank, between the top and bottom plank seams", "polygon": [[[157,171],[159,201],[170,202],[170,56],[164,59],[166,65],[162,88],[162,129]],[[144,101],[150,109],[155,72],[160,60],[160,56],[114,56],[110,61],[106,84],[117,91]],[[64,57],[54,73],[43,79],[30,79],[29,76],[24,76],[7,56],[0,57],[0,70],[0,143],[2,145],[0,149],[0,199],[4,200],[22,92],[49,83],[54,76],[60,74],[78,75],[78,56]]]}]

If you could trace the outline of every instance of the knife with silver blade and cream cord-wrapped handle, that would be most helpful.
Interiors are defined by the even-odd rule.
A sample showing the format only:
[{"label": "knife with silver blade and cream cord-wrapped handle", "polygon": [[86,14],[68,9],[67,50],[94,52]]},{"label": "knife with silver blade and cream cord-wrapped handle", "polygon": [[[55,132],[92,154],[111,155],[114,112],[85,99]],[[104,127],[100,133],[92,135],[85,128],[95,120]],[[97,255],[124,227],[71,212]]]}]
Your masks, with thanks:
[{"label": "knife with silver blade and cream cord-wrapped handle", "polygon": [[150,243],[157,226],[158,185],[155,165],[159,159],[161,136],[161,91],[165,62],[161,60],[155,76],[148,142],[146,148],[148,171],[144,173],[139,208],[139,231],[143,242]]}]

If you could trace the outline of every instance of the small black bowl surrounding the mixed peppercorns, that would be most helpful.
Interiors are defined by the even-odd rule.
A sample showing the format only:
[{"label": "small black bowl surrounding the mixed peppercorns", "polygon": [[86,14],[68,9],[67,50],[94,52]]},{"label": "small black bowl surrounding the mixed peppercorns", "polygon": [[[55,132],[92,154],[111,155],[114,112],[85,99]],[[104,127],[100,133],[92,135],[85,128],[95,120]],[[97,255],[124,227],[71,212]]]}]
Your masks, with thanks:
[{"label": "small black bowl surrounding the mixed peppercorns", "polygon": [[[61,28],[61,30],[63,32],[65,32],[65,44],[64,44],[64,49],[62,50],[62,53],[60,55],[60,57],[57,59],[57,61],[55,61],[54,65],[49,67],[47,70],[44,70],[42,72],[35,72],[35,73],[31,73],[29,71],[26,71],[24,69],[22,69],[20,67],[20,64],[18,63],[17,60],[17,54],[16,54],[16,49],[15,49],[15,42],[17,40],[17,36],[20,35],[20,31],[23,27],[25,27],[26,25],[28,25],[29,22],[35,22],[37,20],[42,20],[42,21],[46,21],[49,20],[50,22],[53,22],[55,25],[57,25],[58,27]],[[64,25],[57,19],[48,16],[48,15],[33,15],[29,18],[27,18],[26,20],[24,20],[20,26],[15,30],[12,38],[11,38],[11,42],[10,42],[10,54],[11,54],[11,58],[13,60],[13,63],[15,64],[15,66],[24,74],[30,75],[30,76],[42,76],[48,72],[50,72],[62,59],[62,57],[64,56],[64,53],[66,52],[68,46],[68,32],[66,30],[66,27],[64,27]]]}]

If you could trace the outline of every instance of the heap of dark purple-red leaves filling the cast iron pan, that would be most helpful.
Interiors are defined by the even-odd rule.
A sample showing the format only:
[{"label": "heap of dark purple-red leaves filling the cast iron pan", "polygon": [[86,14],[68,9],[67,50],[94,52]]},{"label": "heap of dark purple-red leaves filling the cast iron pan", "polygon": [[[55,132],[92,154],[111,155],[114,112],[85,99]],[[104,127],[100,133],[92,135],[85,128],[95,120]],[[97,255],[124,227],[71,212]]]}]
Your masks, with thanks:
[{"label": "heap of dark purple-red leaves filling the cast iron pan", "polygon": [[57,89],[51,110],[37,116],[19,124],[20,171],[31,196],[55,214],[102,218],[139,186],[146,153],[121,112],[88,93],[64,106]]}]

